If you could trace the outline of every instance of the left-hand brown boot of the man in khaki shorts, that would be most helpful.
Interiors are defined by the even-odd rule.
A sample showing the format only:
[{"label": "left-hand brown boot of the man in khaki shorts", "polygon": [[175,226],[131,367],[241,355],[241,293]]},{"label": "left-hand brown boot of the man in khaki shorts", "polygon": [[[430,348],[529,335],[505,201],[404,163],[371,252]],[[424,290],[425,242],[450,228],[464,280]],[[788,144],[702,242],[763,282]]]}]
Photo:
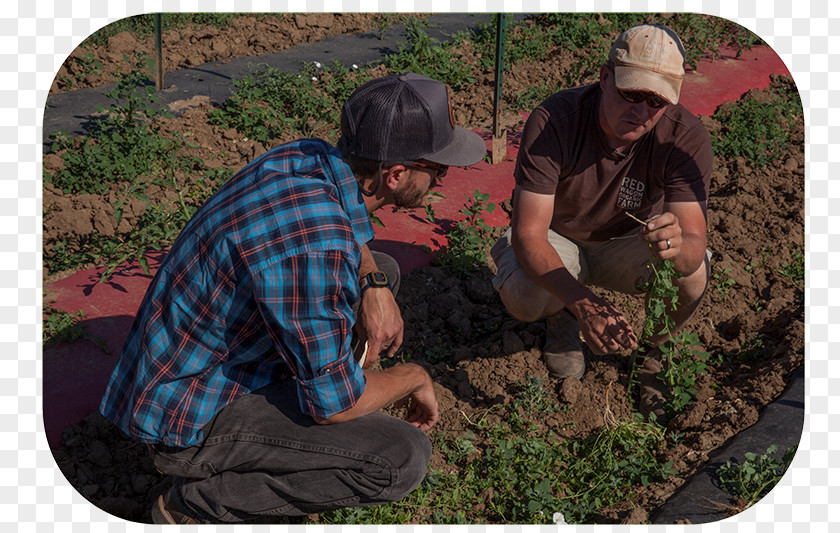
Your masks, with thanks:
[{"label": "left-hand brown boot of the man in khaki shorts", "polygon": [[545,319],[543,356],[548,373],[556,379],[583,377],[586,363],[577,319],[566,310]]}]

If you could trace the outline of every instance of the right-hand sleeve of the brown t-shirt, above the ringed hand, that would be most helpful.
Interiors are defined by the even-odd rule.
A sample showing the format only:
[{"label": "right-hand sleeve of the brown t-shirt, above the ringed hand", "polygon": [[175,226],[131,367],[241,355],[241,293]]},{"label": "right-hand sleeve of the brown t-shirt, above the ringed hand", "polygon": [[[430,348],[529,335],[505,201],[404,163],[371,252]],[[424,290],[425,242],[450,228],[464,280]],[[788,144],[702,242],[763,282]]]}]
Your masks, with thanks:
[{"label": "right-hand sleeve of the brown t-shirt, above the ringed hand", "polygon": [[700,121],[676,140],[665,168],[665,202],[706,203],[714,159],[709,133]]}]

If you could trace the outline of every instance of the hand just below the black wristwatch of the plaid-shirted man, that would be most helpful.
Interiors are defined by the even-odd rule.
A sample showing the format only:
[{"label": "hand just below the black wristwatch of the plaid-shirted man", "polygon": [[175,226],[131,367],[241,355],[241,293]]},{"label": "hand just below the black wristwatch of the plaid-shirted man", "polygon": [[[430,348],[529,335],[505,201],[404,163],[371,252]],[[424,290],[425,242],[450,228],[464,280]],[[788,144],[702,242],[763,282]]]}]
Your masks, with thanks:
[{"label": "hand just below the black wristwatch of the plaid-shirted man", "polygon": [[397,353],[403,341],[403,319],[390,289],[372,287],[362,293],[356,331],[360,342],[368,343],[364,368],[378,361],[383,350],[388,350],[388,357]]}]

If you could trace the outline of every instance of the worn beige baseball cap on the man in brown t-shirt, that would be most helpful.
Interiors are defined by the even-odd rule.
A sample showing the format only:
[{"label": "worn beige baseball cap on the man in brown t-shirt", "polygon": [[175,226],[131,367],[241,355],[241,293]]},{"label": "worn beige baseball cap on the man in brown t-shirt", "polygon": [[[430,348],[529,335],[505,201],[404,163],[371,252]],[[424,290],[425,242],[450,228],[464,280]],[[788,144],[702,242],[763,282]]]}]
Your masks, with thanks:
[{"label": "worn beige baseball cap on the man in brown t-shirt", "polygon": [[685,48],[670,28],[654,24],[634,26],[618,36],[610,61],[615,85],[625,91],[650,91],[672,104],[680,100],[685,77]]}]

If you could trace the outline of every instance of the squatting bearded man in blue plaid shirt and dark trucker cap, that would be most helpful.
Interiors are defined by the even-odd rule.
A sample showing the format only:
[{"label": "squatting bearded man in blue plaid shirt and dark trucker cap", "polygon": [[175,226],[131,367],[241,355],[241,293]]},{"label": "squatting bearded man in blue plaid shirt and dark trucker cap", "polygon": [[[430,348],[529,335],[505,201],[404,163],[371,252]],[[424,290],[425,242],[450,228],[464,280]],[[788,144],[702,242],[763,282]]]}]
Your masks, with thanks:
[{"label": "squatting bearded man in blue plaid shirt and dark trucker cap", "polygon": [[[156,523],[391,502],[425,476],[431,378],[371,368],[403,323],[399,269],[368,249],[369,213],[421,205],[486,148],[454,125],[446,86],[412,73],[359,87],[341,131],[338,147],[303,139],[240,170],[146,293],[100,410],[173,476]],[[380,412],[395,402],[405,420]]]}]

